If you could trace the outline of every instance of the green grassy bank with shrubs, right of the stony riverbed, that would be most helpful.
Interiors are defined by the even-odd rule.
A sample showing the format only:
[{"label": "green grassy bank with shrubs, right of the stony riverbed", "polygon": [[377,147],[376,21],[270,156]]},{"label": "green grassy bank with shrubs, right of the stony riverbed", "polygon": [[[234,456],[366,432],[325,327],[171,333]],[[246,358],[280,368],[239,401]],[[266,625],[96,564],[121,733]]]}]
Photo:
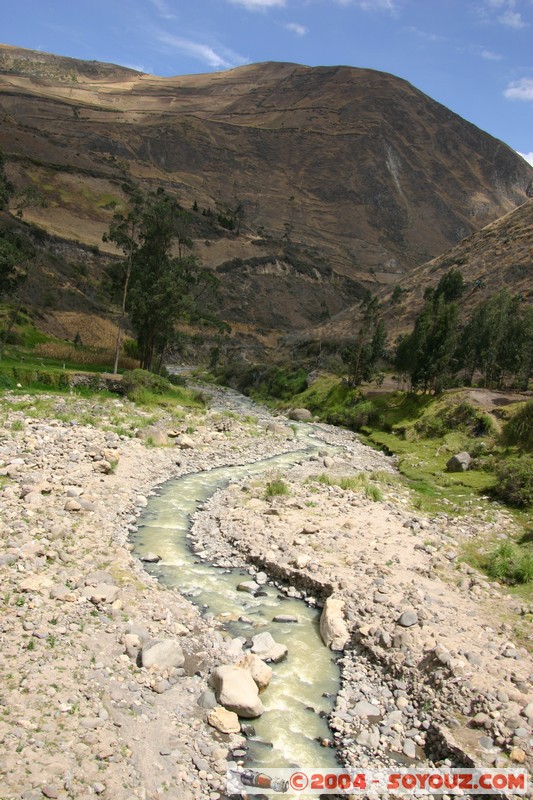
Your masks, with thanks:
[{"label": "green grassy bank with shrubs, right of the stony riverbed", "polygon": [[[469,542],[461,557],[531,599],[533,401],[491,408],[475,402],[467,389],[438,396],[379,387],[361,391],[335,375],[308,380],[302,370],[275,367],[250,366],[231,377],[236,388],[257,400],[285,411],[307,408],[394,455],[415,510],[512,518],[514,541],[502,543],[495,527],[491,537]],[[447,462],[459,452],[471,456],[470,468],[448,471]]]}]

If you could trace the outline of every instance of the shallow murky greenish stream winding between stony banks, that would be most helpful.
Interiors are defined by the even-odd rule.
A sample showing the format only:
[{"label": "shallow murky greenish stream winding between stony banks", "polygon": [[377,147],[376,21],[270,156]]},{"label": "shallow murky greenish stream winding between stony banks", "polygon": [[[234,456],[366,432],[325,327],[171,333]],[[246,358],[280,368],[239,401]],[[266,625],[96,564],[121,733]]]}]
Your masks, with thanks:
[{"label": "shallow murky greenish stream winding between stony banks", "polygon": [[[165,586],[177,587],[204,614],[224,623],[231,636],[249,639],[259,631],[269,631],[275,640],[288,647],[288,658],[274,664],[270,686],[261,695],[265,713],[251,720],[256,736],[248,740],[247,765],[254,769],[271,767],[332,767],[335,751],[322,747],[319,738],[328,738],[329,729],[322,714],[328,714],[339,688],[339,670],[334,657],[320,638],[320,612],[264,586],[264,596],[236,590],[248,573],[240,569],[221,569],[201,562],[188,545],[191,515],[202,502],[231,481],[283,469],[317,452],[317,440],[307,426],[298,426],[302,450],[236,467],[221,467],[191,473],[168,481],[153,497],[132,535],[135,552],[149,551],[161,556],[158,564],[146,565]],[[323,443],[321,444],[324,447]],[[329,448],[334,452],[333,448]],[[246,576],[246,577],[243,577]],[[293,615],[294,623],[275,623],[277,614]],[[253,621],[239,622],[239,617]],[[257,628],[255,627],[257,626]]]}]

